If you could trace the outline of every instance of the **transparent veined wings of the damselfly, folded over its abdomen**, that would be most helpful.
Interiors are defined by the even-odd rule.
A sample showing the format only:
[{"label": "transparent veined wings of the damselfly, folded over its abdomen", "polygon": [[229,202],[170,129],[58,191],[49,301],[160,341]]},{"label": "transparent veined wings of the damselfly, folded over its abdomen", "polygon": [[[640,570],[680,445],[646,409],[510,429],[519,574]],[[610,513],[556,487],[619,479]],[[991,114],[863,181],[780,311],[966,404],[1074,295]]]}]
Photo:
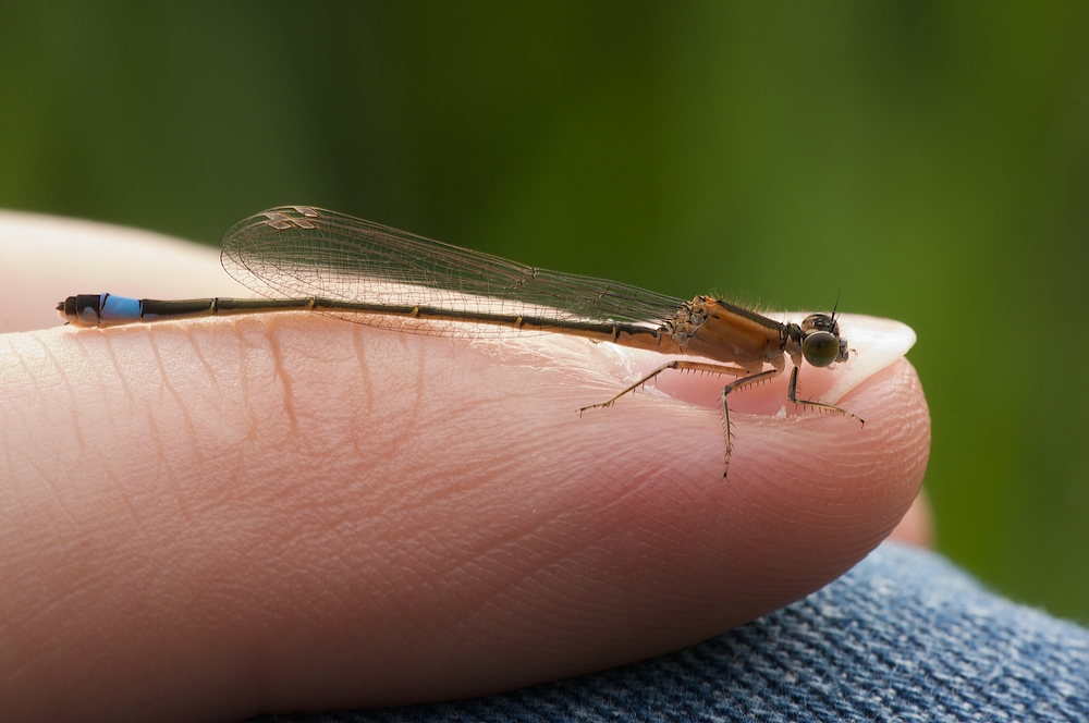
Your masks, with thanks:
[{"label": "transparent veined wings of the damselfly, folded over its abdomen", "polygon": [[683,306],[678,298],[635,286],[535,269],[307,206],[276,208],[238,222],[223,238],[222,262],[237,281],[272,298],[320,296],[653,328]]}]

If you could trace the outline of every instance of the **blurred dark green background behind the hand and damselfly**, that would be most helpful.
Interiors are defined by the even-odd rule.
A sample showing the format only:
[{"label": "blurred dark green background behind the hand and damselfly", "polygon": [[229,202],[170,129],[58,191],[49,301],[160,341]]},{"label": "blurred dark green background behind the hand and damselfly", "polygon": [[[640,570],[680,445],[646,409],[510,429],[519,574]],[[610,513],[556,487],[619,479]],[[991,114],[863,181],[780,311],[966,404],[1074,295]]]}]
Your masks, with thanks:
[{"label": "blurred dark green background behind the hand and damselfly", "polygon": [[939,543],[1089,622],[1089,4],[5,3],[0,207],[280,204],[901,319]]}]

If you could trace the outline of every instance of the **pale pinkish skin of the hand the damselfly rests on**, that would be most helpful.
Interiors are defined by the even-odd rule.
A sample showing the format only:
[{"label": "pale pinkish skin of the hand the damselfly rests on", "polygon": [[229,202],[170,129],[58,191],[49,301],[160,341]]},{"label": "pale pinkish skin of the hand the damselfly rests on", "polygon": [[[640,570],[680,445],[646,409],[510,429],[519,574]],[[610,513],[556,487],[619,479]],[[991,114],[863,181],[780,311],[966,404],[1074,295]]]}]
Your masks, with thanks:
[{"label": "pale pinkish skin of the hand the damselfly rests on", "polygon": [[0,290],[33,309],[5,330],[39,329],[0,336],[12,720],[487,695],[678,649],[890,535],[930,539],[913,507],[929,416],[904,359],[841,401],[865,430],[773,416],[785,375],[731,396],[723,481],[721,380],[674,373],[660,384],[674,399],[637,392],[579,418],[653,354],[306,314],[58,328],[73,293],[240,292],[213,258],[154,240],[140,262],[161,272],[120,289],[108,240],[20,222],[59,246],[21,252],[40,264],[3,267]]}]

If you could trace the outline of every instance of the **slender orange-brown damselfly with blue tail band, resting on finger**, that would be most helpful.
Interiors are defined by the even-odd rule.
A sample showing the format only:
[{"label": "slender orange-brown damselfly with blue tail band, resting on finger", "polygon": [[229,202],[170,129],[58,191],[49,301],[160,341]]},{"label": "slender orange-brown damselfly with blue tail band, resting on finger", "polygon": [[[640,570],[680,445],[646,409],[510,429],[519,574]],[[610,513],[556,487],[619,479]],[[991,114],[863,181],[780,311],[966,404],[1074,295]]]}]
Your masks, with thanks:
[{"label": "slender orange-brown damselfly with blue tail band, resting on finger", "polygon": [[[69,296],[57,305],[77,327],[109,327],[204,316],[310,310],[356,323],[457,335],[505,327],[584,336],[671,359],[612,399],[611,406],[668,369],[736,377],[722,388],[726,459],[733,449],[726,397],[794,365],[787,397],[805,407],[861,418],[834,404],[797,397],[803,360],[846,362],[835,314],[800,324],[775,321],[711,296],[684,301],[635,286],[537,269],[309,206],[250,217],[223,240],[223,268],[266,298],[134,299]],[[476,331],[469,332],[468,324]],[[480,327],[479,324],[484,324]]]}]

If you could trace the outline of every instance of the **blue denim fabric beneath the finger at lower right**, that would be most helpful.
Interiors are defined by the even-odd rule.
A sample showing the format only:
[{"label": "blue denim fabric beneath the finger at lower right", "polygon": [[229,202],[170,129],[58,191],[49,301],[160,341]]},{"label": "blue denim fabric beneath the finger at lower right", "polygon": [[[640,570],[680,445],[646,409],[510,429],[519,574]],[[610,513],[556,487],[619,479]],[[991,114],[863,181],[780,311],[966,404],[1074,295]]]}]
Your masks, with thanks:
[{"label": "blue denim fabric beneath the finger at lower right", "polygon": [[1089,721],[1089,630],[885,543],[805,600],[686,650],[348,721]]}]

